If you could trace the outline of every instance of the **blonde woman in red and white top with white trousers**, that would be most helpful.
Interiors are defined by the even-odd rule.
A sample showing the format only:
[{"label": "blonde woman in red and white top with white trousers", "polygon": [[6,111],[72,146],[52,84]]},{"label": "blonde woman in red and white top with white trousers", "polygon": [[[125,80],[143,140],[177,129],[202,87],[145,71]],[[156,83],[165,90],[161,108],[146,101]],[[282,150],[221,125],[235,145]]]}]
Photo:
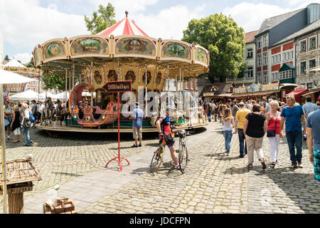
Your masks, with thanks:
[{"label": "blonde woman in red and white top with white trousers", "polygon": [[281,113],[277,110],[279,108],[277,100],[270,102],[270,108],[270,112],[267,113],[267,138],[270,142],[271,167],[274,167],[278,162]]}]

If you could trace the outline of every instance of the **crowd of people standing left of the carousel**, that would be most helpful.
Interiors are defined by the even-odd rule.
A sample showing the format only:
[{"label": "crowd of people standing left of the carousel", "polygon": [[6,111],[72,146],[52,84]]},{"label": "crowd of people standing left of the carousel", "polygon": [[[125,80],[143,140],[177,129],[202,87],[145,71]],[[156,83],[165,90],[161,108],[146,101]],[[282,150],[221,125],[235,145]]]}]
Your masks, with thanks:
[{"label": "crowd of people standing left of the carousel", "polygon": [[[37,146],[38,143],[31,140],[30,128],[36,128],[36,123],[46,122],[46,119],[54,121],[58,117],[60,121],[63,121],[65,105],[60,100],[52,102],[51,98],[47,98],[46,102],[23,100],[14,103],[12,100],[6,100],[4,102],[6,140],[12,140],[14,143],[20,142],[22,132],[26,137],[24,146]],[[11,133],[14,138],[11,138]]]}]

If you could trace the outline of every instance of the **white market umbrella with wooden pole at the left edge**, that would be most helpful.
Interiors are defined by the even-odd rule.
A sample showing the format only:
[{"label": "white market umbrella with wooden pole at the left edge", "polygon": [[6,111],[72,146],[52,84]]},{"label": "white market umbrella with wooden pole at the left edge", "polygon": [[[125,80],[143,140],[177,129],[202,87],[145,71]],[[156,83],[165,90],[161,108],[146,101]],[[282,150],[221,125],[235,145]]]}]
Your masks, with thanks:
[{"label": "white market umbrella with wooden pole at the left edge", "polygon": [[6,139],[4,130],[4,88],[3,84],[20,84],[28,83],[29,81],[36,81],[32,78],[26,78],[18,73],[13,73],[10,71],[0,70],[0,125],[1,125],[1,162],[2,162],[2,191],[3,191],[3,204],[4,204],[4,214],[7,213],[7,202],[6,202]]}]

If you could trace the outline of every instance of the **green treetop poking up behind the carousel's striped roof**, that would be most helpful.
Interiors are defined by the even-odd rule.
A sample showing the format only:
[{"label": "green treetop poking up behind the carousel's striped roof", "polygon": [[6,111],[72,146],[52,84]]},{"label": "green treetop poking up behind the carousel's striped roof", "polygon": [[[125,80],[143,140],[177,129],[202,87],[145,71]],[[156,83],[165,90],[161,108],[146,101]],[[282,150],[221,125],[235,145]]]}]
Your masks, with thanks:
[{"label": "green treetop poking up behind the carousel's striped roof", "polygon": [[100,31],[105,30],[105,28],[117,23],[117,21],[114,20],[114,16],[114,7],[111,3],[108,3],[106,8],[100,5],[98,10],[93,12],[92,18],[85,16],[87,31],[90,31],[92,34],[100,33]]}]

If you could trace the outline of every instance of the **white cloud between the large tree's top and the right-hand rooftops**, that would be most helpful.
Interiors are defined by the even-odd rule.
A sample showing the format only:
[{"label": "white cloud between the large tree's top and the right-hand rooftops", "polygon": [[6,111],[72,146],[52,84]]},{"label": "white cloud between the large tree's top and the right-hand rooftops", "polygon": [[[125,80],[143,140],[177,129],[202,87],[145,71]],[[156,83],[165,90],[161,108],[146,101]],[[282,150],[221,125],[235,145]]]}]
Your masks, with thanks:
[{"label": "white cloud between the large tree's top and the right-hand rooftops", "polygon": [[237,22],[238,26],[245,29],[245,32],[258,30],[262,22],[272,16],[287,13],[288,9],[269,4],[254,4],[242,2],[233,7],[227,7],[223,14],[231,16]]}]

